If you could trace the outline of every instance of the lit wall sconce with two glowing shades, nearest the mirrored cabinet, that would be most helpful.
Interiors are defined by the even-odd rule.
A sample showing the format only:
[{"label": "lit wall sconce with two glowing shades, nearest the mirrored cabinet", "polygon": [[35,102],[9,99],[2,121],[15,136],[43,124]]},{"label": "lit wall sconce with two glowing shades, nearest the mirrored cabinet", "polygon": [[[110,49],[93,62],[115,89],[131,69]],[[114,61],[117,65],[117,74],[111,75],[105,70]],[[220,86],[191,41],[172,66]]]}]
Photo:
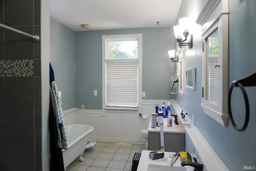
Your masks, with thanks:
[{"label": "lit wall sconce with two glowing shades, nearest the mirrored cabinet", "polygon": [[[173,27],[175,38],[178,42],[178,46],[182,49],[182,46],[188,46],[189,49],[193,47],[193,19],[191,17],[184,17],[179,19],[179,24]],[[182,35],[184,36],[184,40],[182,40]],[[190,42],[187,39],[190,35]],[[185,42],[188,40],[188,42]]]}]

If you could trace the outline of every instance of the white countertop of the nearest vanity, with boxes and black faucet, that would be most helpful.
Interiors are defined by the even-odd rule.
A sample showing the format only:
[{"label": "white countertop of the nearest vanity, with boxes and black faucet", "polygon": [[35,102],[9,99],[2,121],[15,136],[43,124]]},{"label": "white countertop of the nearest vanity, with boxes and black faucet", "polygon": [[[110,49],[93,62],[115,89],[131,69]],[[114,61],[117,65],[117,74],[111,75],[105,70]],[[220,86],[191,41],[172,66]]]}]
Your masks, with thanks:
[{"label": "white countertop of the nearest vanity, with boxes and black faucet", "polygon": [[[149,152],[150,151],[148,151],[148,150],[142,150],[142,153],[141,153],[141,156],[140,156],[140,162],[139,162],[137,171],[147,171],[147,165],[148,164],[159,165],[159,166],[170,166],[170,170],[171,170],[171,167],[173,167],[173,168],[174,167],[181,167],[182,168],[182,166],[180,165],[180,163],[181,163],[180,157],[175,161],[173,166],[171,166],[168,163],[160,161],[160,159],[155,159],[155,160],[150,159],[149,158]],[[174,152],[164,151],[164,156],[167,156],[168,153],[174,154]],[[191,166],[184,166],[184,167],[186,167],[187,171],[193,171],[194,170],[194,167],[191,167]]]}]

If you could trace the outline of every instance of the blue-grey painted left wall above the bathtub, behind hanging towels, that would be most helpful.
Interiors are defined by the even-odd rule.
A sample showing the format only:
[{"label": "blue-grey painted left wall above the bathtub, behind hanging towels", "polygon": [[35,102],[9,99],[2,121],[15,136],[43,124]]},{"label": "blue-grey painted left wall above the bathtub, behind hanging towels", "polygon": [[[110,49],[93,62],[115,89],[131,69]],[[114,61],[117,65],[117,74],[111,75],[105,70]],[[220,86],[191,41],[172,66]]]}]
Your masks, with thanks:
[{"label": "blue-grey painted left wall above the bathtub, behind hanging towels", "polygon": [[62,109],[74,108],[75,32],[53,18],[50,18],[50,63],[61,91]]}]

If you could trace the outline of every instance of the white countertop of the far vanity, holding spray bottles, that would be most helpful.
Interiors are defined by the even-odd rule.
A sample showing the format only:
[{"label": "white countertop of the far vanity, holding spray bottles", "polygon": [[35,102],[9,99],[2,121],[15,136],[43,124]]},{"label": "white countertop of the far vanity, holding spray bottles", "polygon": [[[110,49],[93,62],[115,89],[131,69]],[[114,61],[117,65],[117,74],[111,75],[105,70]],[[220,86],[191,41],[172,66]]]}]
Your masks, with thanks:
[{"label": "white countertop of the far vanity, holding spray bottles", "polygon": [[[174,118],[172,120],[172,127],[167,126],[167,118],[164,117],[164,133],[185,133],[182,125],[175,125]],[[148,124],[148,132],[160,132],[160,127],[152,128],[151,127],[151,119]]]}]

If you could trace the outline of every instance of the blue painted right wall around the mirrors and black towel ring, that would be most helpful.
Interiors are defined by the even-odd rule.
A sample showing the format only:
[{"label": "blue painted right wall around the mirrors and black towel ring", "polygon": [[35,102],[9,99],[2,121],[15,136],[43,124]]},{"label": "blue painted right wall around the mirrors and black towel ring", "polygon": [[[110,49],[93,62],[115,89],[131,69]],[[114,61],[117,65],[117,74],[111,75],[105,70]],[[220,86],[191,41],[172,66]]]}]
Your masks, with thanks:
[{"label": "blue painted right wall around the mirrors and black towel ring", "polygon": [[[197,16],[204,2],[205,0],[197,2],[182,0],[177,18]],[[233,80],[256,71],[255,9],[256,1],[229,1],[229,86]],[[191,50],[186,50],[184,65],[185,70],[196,67],[196,90],[185,87],[184,97],[177,95],[175,100],[182,109],[189,112],[190,119],[192,119],[192,114],[195,115],[196,127],[230,171],[243,170],[244,166],[256,166],[254,159],[256,151],[256,87],[246,87],[250,101],[250,122],[244,132],[238,132],[230,121],[228,127],[224,127],[206,115],[200,107],[202,95],[202,40],[200,37],[195,37],[194,47]],[[235,115],[234,119],[241,127],[244,121],[245,107],[242,93],[238,88],[234,88],[232,93],[232,111]]]}]

